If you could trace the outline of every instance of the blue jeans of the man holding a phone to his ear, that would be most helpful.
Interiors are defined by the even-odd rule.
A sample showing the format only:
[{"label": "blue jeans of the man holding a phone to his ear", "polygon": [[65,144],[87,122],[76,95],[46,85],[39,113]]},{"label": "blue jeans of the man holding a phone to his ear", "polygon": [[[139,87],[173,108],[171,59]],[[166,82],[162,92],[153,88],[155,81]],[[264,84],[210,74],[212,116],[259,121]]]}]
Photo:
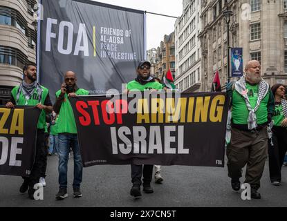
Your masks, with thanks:
[{"label": "blue jeans of the man holding a phone to his ear", "polygon": [[82,158],[80,154],[79,143],[77,142],[77,134],[59,134],[59,187],[67,187],[68,172],[68,153],[70,147],[74,153],[74,181],[73,187],[80,187],[83,175]]}]

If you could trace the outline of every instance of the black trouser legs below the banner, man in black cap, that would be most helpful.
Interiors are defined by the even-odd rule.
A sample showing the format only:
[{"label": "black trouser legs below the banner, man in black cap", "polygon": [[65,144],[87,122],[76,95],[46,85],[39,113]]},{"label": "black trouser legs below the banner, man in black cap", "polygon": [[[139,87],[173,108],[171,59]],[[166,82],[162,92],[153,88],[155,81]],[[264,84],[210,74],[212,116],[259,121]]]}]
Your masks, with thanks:
[{"label": "black trouser legs below the banner, man in black cap", "polygon": [[[142,182],[143,182],[142,184],[143,186],[149,185],[151,183],[153,169],[154,169],[154,165],[131,164],[131,182],[136,185],[141,185]],[[143,179],[142,179],[142,175],[143,175]]]}]

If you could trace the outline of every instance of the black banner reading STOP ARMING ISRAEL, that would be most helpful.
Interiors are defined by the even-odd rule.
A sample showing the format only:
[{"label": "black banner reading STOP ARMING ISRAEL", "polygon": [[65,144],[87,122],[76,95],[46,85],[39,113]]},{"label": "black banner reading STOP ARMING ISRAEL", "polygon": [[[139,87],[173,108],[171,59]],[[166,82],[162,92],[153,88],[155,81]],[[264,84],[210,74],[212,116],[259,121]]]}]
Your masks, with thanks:
[{"label": "black banner reading STOP ARMING ISRAEL", "polygon": [[227,99],[159,92],[71,98],[83,165],[223,167]]}]

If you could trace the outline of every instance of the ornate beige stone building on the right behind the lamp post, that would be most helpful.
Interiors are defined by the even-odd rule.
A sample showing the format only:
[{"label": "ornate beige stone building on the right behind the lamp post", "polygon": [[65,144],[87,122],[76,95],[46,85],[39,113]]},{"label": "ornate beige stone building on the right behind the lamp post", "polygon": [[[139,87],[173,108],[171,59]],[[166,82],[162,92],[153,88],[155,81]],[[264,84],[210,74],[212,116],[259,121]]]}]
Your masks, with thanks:
[{"label": "ornate beige stone building on the right behind the lamp post", "polygon": [[[261,74],[269,84],[287,84],[287,1],[201,0],[202,91],[210,91],[216,70],[221,85],[228,81],[228,6],[230,47],[243,48],[243,67],[252,59],[261,62]],[[231,79],[232,80],[232,79]]]}]

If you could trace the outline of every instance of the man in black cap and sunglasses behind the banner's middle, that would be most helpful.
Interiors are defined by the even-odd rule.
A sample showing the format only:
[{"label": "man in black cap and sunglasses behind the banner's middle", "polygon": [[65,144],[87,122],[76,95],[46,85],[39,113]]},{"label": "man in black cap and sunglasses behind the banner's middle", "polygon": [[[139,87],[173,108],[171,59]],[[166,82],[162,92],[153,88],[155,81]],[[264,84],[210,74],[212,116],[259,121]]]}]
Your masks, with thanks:
[{"label": "man in black cap and sunglasses behind the banner's middle", "polygon": [[[133,81],[130,81],[127,84],[127,92],[130,90],[161,90],[163,89],[163,85],[158,83],[151,77],[151,64],[149,61],[141,61],[137,68],[137,77]],[[143,167],[143,169],[142,169]],[[151,179],[152,179],[152,170],[154,165],[136,165],[131,164],[131,182],[133,186],[131,188],[131,195],[134,197],[139,197],[140,193],[140,185],[143,186],[143,191],[145,193],[153,193],[154,189],[151,187]],[[143,180],[142,180],[143,174]],[[143,181],[143,183],[141,182]]]}]

